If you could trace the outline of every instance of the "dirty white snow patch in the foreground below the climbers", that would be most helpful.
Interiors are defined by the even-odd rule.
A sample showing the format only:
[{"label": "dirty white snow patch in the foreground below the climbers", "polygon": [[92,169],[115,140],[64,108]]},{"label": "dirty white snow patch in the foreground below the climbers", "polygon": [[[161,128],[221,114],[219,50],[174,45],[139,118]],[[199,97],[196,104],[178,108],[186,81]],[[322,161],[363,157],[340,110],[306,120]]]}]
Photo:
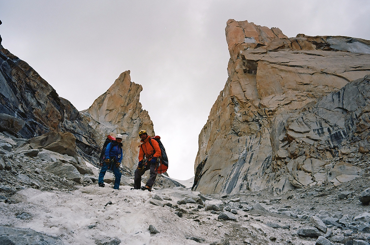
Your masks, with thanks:
[{"label": "dirty white snow patch in the foreground below the climbers", "polygon": [[[166,191],[155,193],[165,197]],[[172,200],[162,203],[176,204],[181,195],[192,194],[181,187],[176,193],[179,198],[172,193],[169,198]],[[0,223],[57,236],[65,244],[86,245],[114,237],[120,239],[121,244],[197,244],[186,236],[203,237],[213,232],[213,225],[221,224],[207,219],[213,225],[200,228],[198,222],[174,214],[173,207],[151,204],[149,200],[153,200],[153,195],[154,192],[131,190],[129,186],[117,191],[91,185],[69,193],[28,188],[13,197],[21,202],[0,202],[0,210],[7,214],[1,215]],[[111,204],[107,204],[109,202]],[[17,218],[20,214],[28,219]],[[154,225],[160,233],[151,234],[149,225]]]}]

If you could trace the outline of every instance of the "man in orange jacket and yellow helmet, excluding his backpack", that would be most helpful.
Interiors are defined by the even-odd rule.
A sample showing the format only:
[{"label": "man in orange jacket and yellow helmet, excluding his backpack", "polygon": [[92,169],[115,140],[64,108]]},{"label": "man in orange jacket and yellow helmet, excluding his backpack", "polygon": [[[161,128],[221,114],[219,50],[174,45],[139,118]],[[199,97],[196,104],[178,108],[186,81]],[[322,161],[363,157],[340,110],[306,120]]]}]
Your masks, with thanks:
[{"label": "man in orange jacket and yellow helmet, excluding his backpack", "polygon": [[[135,170],[134,177],[134,189],[142,189],[152,191],[155,178],[157,177],[157,166],[159,158],[161,157],[161,148],[159,148],[158,142],[152,139],[147,131],[139,131],[139,137],[141,138],[142,144],[139,146],[139,164]],[[150,169],[150,177],[145,186],[141,186],[141,176],[145,171]]]}]

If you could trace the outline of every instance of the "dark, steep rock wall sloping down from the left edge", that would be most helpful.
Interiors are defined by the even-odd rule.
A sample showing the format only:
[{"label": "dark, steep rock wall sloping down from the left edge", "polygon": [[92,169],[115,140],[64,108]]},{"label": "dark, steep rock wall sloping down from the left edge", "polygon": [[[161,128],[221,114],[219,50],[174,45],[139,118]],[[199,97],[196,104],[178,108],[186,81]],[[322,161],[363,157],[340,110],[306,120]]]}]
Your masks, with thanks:
[{"label": "dark, steep rock wall sloping down from the left edge", "polygon": [[58,96],[26,62],[0,45],[0,113],[23,120],[24,126],[13,133],[32,138],[47,132],[71,132],[80,154],[97,157],[99,147],[95,131],[78,110]]}]

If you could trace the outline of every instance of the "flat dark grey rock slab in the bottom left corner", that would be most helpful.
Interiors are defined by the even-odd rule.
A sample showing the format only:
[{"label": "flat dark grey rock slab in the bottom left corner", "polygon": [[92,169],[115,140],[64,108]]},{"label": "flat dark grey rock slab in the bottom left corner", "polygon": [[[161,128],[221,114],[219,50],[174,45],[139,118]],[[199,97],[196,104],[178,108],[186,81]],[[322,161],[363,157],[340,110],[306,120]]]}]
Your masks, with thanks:
[{"label": "flat dark grey rock slab in the bottom left corner", "polygon": [[0,226],[0,244],[64,245],[64,242],[60,238],[48,236],[33,229]]}]

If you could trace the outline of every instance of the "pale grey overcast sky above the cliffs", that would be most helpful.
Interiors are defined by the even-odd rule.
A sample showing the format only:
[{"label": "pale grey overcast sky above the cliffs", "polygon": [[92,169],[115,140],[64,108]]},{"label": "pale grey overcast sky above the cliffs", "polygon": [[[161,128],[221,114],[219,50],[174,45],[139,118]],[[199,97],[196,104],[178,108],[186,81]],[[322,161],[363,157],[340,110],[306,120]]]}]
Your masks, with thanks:
[{"label": "pale grey overcast sky above the cliffs", "polygon": [[369,16],[369,0],[0,0],[0,35],[80,111],[131,70],[168,174],[189,179],[198,135],[227,80],[228,19],[279,27],[288,37],[370,40]]}]

